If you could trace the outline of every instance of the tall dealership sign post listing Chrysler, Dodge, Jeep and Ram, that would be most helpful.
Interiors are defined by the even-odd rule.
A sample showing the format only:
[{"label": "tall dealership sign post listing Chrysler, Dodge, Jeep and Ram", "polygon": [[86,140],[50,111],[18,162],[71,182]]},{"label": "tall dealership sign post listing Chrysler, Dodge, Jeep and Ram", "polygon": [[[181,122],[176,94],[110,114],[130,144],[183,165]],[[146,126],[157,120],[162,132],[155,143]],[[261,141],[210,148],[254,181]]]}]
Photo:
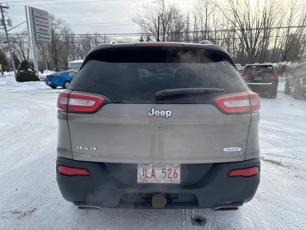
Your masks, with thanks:
[{"label": "tall dealership sign post listing Chrysler, Dodge, Jeep and Ram", "polygon": [[32,61],[35,71],[39,74],[35,42],[51,43],[49,13],[31,6],[25,6],[25,13]]}]

